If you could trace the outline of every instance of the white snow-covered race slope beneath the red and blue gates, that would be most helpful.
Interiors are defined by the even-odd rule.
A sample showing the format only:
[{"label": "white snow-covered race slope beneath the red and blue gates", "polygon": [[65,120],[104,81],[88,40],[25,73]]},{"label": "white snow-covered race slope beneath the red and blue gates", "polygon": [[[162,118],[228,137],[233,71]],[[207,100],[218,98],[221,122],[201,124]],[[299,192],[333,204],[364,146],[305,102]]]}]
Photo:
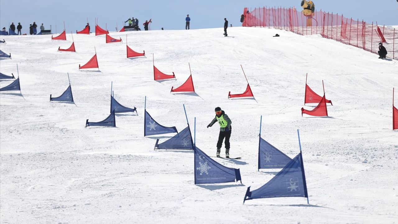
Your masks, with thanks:
[{"label": "white snow-covered race slope beneath the red and blue gates", "polygon": [[[16,75],[22,95],[0,94],[1,223],[398,223],[398,133],[392,131],[392,87],[398,61],[324,39],[265,28],[222,28],[73,35],[76,53],[57,52],[72,43],[49,35],[10,36],[0,45],[2,73]],[[281,37],[272,37],[279,33]],[[125,39],[146,57],[127,59]],[[97,50],[100,71],[79,71]],[[153,81],[155,66],[176,81]],[[170,94],[189,76],[196,94]],[[246,80],[256,100],[227,99]],[[68,86],[75,104],[49,102]],[[329,118],[301,116],[305,74],[322,94]],[[138,115],[117,114],[117,128],[84,128],[86,119],[109,115],[115,99]],[[10,81],[0,81],[0,87]],[[398,91],[398,90],[397,90]],[[194,185],[191,151],[154,151],[143,136],[147,110],[162,125],[186,127],[196,144],[215,155],[214,108],[232,120],[231,156],[217,159],[240,168],[242,183]],[[396,99],[398,96],[396,95]],[[396,105],[398,102],[396,101]],[[304,106],[306,109],[312,106]],[[258,133],[294,157],[300,130],[310,205],[306,198],[249,200],[279,169],[257,171]],[[193,130],[193,128],[191,128]],[[172,136],[172,134],[165,135]],[[167,138],[160,137],[160,141]],[[222,150],[224,155],[224,150]],[[367,161],[367,163],[364,163]]]}]

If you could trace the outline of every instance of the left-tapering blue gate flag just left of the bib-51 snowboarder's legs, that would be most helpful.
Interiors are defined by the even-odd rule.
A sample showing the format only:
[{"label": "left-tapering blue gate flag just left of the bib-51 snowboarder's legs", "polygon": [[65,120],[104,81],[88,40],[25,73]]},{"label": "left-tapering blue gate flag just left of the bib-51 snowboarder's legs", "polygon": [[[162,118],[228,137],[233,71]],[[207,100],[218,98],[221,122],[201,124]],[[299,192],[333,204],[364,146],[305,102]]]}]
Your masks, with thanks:
[{"label": "left-tapering blue gate flag just left of the bib-51 snowboarder's legs", "polygon": [[177,133],[175,136],[170,138],[169,140],[158,144],[159,140],[156,140],[155,149],[185,149],[185,150],[193,150],[193,140],[191,129],[189,125],[184,128],[181,132]]}]

